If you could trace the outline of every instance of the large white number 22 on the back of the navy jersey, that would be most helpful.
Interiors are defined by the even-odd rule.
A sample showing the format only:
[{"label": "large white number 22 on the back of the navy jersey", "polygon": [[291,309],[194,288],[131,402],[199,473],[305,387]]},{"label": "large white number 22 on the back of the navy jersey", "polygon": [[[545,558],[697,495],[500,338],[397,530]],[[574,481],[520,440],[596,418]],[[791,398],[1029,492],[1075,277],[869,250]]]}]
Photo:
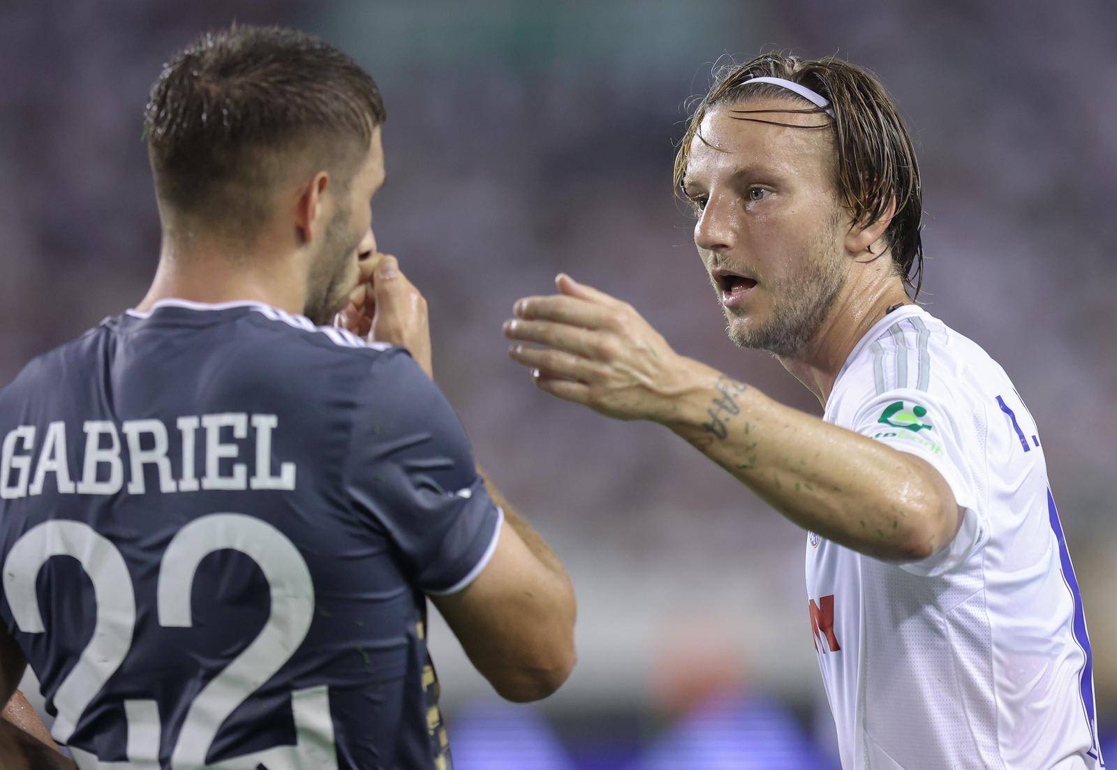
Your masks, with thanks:
[{"label": "large white number 22 on the back of the navy jersey", "polygon": [[[189,628],[190,593],[198,565],[210,553],[233,550],[259,567],[271,595],[267,622],[256,638],[194,697],[171,753],[173,770],[219,768],[269,770],[337,767],[330,695],[322,686],[292,693],[295,745],[206,763],[225,720],[270,679],[302,645],[314,617],[314,584],[298,549],[279,530],[239,513],[213,513],[183,526],[163,554],[157,582],[159,624]],[[42,634],[36,579],[52,557],[76,559],[93,583],[96,619],[93,638],[55,693],[58,717],[52,730],[66,743],[93,698],[127,657],[135,631],[135,591],[124,557],[106,538],[76,521],[49,521],[23,534],[3,563],[3,589],[19,630]],[[157,770],[160,717],[155,701],[124,702],[126,760],[106,762],[75,747],[82,770]]]}]

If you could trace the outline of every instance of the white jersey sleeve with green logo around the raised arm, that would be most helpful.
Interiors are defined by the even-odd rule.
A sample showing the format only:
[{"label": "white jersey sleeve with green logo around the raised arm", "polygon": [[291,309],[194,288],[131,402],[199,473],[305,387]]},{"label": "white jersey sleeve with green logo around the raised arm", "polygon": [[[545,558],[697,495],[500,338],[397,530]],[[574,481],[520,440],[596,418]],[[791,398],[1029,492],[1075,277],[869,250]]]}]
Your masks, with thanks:
[{"label": "white jersey sleeve with green logo around the raised arm", "polygon": [[934,577],[966,561],[989,540],[989,522],[977,498],[968,450],[978,437],[970,410],[948,397],[901,388],[886,391],[859,411],[853,430],[920,457],[946,481],[963,508],[962,525],[947,545],[926,559],[901,562],[914,574]]}]

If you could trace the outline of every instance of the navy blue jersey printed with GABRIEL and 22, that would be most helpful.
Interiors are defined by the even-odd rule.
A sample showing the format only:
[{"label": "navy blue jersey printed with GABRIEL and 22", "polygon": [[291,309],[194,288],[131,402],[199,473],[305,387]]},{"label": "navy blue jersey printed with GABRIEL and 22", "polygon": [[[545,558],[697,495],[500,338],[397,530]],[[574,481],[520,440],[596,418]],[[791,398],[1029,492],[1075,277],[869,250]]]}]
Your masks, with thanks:
[{"label": "navy blue jersey printed with GABRIEL and 22", "polygon": [[424,595],[502,514],[407,351],[168,301],[28,364],[0,440],[0,618],[79,766],[450,767]]}]

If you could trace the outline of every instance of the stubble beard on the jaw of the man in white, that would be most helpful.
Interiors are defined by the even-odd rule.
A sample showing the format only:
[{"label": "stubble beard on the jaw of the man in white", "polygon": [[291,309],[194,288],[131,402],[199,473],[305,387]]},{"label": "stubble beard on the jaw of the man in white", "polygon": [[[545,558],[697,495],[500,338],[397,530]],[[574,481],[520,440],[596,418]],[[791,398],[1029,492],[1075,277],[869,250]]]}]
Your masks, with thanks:
[{"label": "stubble beard on the jaw of the man in white", "polygon": [[738,323],[736,314],[723,307],[725,331],[734,344],[791,358],[818,335],[846,285],[844,265],[837,254],[825,254],[821,258],[811,258],[808,254],[804,257],[808,267],[802,274],[791,282],[766,287],[773,295],[773,310],[763,323]]}]

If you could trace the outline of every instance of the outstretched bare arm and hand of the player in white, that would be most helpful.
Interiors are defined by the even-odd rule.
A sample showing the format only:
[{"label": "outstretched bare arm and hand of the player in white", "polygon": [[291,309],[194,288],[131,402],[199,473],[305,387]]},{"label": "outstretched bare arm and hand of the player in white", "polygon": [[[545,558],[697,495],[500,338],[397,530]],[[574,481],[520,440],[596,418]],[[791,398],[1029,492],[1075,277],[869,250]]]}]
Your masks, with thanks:
[{"label": "outstretched bare arm and hand of the player in white", "polygon": [[526,297],[505,334],[536,386],[617,419],[660,422],[803,529],[879,559],[917,561],[949,543],[962,511],[911,454],[779,403],[679,355],[630,305],[569,276]]}]

